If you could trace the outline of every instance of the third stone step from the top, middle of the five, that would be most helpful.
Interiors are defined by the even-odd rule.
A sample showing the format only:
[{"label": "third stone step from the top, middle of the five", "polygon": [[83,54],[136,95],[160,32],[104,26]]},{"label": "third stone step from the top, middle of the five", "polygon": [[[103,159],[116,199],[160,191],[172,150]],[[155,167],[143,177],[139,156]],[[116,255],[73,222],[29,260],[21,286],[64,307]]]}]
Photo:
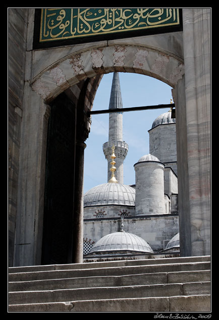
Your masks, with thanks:
[{"label": "third stone step from the top, middle of the five", "polygon": [[210,281],[210,270],[9,282],[9,291],[42,291]]}]

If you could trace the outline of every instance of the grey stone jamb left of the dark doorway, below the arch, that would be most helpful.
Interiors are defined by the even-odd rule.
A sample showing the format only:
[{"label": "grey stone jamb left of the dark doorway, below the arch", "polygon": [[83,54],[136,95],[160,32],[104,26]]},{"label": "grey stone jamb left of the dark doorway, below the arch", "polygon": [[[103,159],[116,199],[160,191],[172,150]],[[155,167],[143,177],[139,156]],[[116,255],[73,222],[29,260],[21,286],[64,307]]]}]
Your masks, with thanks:
[{"label": "grey stone jamb left of the dark doorway, below the arch", "polygon": [[50,107],[25,82],[14,266],[41,263],[47,125]]}]

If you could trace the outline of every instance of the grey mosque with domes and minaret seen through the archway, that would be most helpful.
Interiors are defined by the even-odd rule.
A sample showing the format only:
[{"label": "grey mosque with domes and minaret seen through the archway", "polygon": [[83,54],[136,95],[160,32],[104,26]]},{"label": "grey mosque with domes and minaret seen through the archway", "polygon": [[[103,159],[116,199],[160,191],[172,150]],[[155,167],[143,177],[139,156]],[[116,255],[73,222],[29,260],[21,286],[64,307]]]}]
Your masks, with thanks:
[{"label": "grey mosque with domes and minaret seen through the archway", "polygon": [[[119,74],[114,73],[109,109],[122,110]],[[179,255],[176,121],[171,111],[152,123],[149,154],[136,164],[135,183],[123,184],[123,113],[109,114],[107,183],[84,194],[84,260]]]}]

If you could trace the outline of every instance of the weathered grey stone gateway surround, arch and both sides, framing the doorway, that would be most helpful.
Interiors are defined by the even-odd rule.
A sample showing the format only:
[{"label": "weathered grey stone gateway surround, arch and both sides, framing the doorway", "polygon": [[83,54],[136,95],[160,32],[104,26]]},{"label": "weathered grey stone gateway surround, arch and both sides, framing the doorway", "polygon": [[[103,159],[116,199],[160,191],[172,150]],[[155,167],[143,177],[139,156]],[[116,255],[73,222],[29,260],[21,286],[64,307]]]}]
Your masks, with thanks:
[{"label": "weathered grey stone gateway surround, arch and both sides, framing the doorway", "polygon": [[[165,81],[174,88],[178,86],[178,90],[175,91],[179,95],[178,105],[180,105],[180,99],[184,100],[186,94],[185,104],[183,101],[182,108],[179,108],[179,113],[182,112],[183,117],[181,117],[180,127],[182,132],[180,130],[178,132],[178,144],[180,148],[181,145],[185,146],[181,150],[180,166],[182,165],[183,169],[180,179],[185,183],[181,183],[179,190],[181,192],[179,208],[183,215],[182,220],[186,221],[181,222],[180,238],[181,242],[185,242],[184,248],[188,248],[183,254],[209,254],[210,9],[184,8],[182,32],[40,50],[32,50],[33,8],[10,8],[9,13],[10,101],[17,102],[13,104],[13,108],[15,107],[15,113],[16,110],[19,111],[16,115],[22,117],[20,131],[20,120],[14,125],[15,113],[12,113],[10,138],[14,134],[17,142],[21,141],[20,147],[25,154],[19,156],[14,145],[12,156],[10,155],[16,166],[20,159],[19,167],[21,167],[18,176],[13,176],[13,179],[17,179],[18,184],[10,180],[12,183],[10,192],[13,193],[13,199],[12,193],[10,199],[10,208],[13,210],[11,222],[15,219],[15,212],[18,210],[16,233],[15,224],[10,224],[10,244],[12,245],[10,257],[14,256],[13,248],[15,248],[17,251],[15,252],[15,265],[36,264],[40,261],[42,190],[45,181],[43,161],[46,147],[46,134],[44,135],[46,125],[44,116],[41,116],[39,112],[44,103],[43,99],[50,101],[63,90],[79,83],[87,76],[92,77],[96,74],[117,70],[150,75]],[[70,60],[74,60],[73,57],[76,58],[77,55],[80,55],[80,60],[76,59],[77,62],[75,60],[73,65],[70,64]],[[23,68],[25,61],[26,68]],[[14,77],[11,77],[12,73]],[[184,78],[185,86],[183,86]],[[23,90],[24,79],[25,90]],[[34,96],[33,91],[37,97]],[[23,97],[25,98],[24,103]],[[10,109],[10,112],[12,110]],[[38,120],[35,126],[36,119]],[[14,131],[11,130],[12,127]],[[33,127],[35,128],[34,134],[31,133]],[[36,138],[42,143],[35,143]],[[13,141],[15,141],[14,138]],[[27,146],[27,152],[25,146]],[[28,151],[30,157],[27,156]],[[184,157],[183,152],[185,152]],[[28,174],[30,178],[27,180]],[[183,175],[185,175],[185,181]],[[12,175],[10,179],[11,177]],[[18,185],[18,196],[15,199],[16,184]],[[24,195],[27,195],[27,198]],[[19,199],[18,204],[17,199]],[[24,210],[24,215],[21,213],[22,210]],[[17,238],[14,247],[15,234]],[[18,248],[18,245],[21,247]]]}]

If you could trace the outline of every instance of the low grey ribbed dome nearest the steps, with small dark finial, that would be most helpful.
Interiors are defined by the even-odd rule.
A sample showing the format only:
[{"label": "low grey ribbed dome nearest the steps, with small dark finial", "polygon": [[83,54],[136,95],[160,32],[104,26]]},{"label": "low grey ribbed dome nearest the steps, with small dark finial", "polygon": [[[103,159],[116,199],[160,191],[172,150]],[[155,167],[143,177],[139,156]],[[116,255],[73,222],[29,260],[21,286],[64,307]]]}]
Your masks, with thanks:
[{"label": "low grey ribbed dome nearest the steps, with small dark finial", "polygon": [[102,237],[94,244],[90,253],[121,250],[153,253],[153,250],[144,239],[124,231],[111,233]]}]

